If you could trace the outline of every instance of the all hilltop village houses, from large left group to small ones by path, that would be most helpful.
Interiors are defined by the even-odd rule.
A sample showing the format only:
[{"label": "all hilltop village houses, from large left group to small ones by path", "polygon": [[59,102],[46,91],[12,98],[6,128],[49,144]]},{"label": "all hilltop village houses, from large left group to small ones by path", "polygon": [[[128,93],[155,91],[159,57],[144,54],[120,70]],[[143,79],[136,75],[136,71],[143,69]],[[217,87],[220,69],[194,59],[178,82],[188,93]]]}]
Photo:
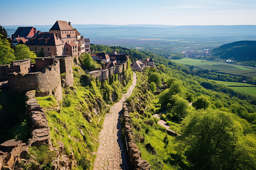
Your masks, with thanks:
[{"label": "all hilltop village houses, from large left group to small ones by path", "polygon": [[[90,40],[84,39],[71,22],[57,20],[48,32],[41,32],[34,27],[18,27],[11,35],[13,45],[25,44],[31,51],[40,54],[41,57],[48,56],[71,56],[75,63],[77,57],[90,53]],[[117,63],[124,63],[128,59],[128,54],[113,52],[108,54],[91,54],[96,61],[104,62],[102,69],[115,67]],[[136,61],[131,67],[133,70],[142,71],[144,67],[154,66],[154,60],[147,58],[144,61]]]}]

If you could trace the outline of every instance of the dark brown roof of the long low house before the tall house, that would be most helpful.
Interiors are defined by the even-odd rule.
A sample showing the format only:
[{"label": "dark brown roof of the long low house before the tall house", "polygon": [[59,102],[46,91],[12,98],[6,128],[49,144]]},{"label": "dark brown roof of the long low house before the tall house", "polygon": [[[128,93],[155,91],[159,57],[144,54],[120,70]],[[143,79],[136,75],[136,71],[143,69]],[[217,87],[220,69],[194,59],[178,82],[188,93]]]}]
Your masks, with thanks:
[{"label": "dark brown roof of the long low house before the tall house", "polygon": [[63,42],[54,33],[40,33],[26,42],[26,45],[57,46],[62,44]]}]

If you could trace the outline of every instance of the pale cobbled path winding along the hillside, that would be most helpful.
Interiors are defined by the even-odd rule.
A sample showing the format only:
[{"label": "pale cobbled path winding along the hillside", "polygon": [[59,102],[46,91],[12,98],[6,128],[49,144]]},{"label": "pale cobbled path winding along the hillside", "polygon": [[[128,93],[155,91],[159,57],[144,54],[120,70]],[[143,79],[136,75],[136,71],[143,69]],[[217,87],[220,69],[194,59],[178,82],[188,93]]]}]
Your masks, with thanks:
[{"label": "pale cobbled path winding along the hillside", "polygon": [[133,73],[133,84],[118,103],[110,108],[110,113],[105,116],[103,129],[100,132],[100,146],[94,161],[94,169],[131,169],[128,155],[121,140],[121,122],[119,117],[122,114],[122,105],[133,92],[137,83],[137,76]]}]

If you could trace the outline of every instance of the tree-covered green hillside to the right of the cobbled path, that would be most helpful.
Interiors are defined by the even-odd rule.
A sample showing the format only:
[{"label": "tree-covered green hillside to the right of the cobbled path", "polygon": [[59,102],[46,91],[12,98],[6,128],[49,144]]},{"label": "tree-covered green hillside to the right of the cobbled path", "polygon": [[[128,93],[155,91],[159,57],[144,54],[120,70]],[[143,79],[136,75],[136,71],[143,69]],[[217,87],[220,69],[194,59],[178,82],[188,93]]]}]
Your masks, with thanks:
[{"label": "tree-covered green hillside to the right of the cobbled path", "polygon": [[[137,86],[127,99],[134,139],[152,169],[256,168],[255,96],[193,75],[188,66],[155,54],[123,50],[134,60],[152,57],[158,65],[137,73]],[[151,84],[159,84],[159,78],[167,88],[154,93]],[[168,135],[155,113],[181,136]]]}]

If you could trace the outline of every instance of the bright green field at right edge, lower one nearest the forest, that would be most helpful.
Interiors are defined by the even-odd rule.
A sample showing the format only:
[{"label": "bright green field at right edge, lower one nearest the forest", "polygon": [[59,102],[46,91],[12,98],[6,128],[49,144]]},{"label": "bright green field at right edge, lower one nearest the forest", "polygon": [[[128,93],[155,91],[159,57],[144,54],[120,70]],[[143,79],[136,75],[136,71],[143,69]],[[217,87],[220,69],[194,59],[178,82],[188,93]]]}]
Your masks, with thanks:
[{"label": "bright green field at right edge, lower one nearest the forest", "polygon": [[[247,83],[238,83],[238,82],[222,82],[217,80],[212,80],[218,84],[224,84],[225,86],[253,86]],[[245,94],[254,95],[256,96],[256,87],[230,87],[234,90],[244,92]]]}]

